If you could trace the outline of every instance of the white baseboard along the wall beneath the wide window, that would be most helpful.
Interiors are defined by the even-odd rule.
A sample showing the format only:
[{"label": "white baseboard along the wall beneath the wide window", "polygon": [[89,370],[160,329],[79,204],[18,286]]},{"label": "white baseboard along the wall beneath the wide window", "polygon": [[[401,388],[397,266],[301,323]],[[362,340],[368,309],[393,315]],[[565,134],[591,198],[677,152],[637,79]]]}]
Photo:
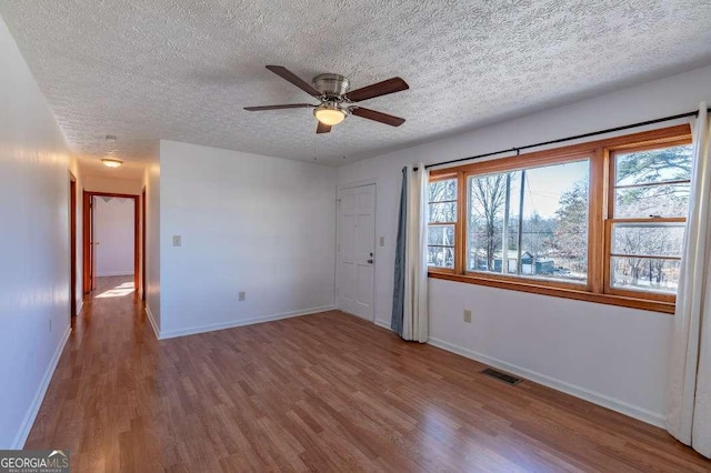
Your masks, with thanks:
[{"label": "white baseboard along the wall beneath the wide window", "polygon": [[629,415],[630,417],[638,419],[642,422],[647,422],[648,424],[652,424],[662,429],[667,427],[667,417],[661,413],[631,405],[624,401],[620,401],[609,395],[590,391],[584,388],[570,384],[565,381],[557,380],[554,378],[547,376],[545,374],[537,373],[535,371],[518,366],[515,364],[507,363],[505,361],[501,361],[495,358],[488,356],[483,353],[478,353],[472,350],[454,345],[443,340],[430,338],[430,340],[428,340],[428,343],[442,350],[447,350],[448,352],[457,353],[459,355],[475,360],[480,363],[508,371],[509,373],[525,378],[527,380],[531,380],[544,386],[554,389],[557,391],[562,391],[565,394],[570,394],[575,397],[592,402],[593,404],[598,404],[612,411],[619,412],[621,414]]}]

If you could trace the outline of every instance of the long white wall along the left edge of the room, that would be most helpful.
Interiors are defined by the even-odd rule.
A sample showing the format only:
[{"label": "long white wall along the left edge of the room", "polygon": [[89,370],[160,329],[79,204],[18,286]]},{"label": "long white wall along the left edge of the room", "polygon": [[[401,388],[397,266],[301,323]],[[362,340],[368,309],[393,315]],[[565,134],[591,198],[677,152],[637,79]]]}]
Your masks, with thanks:
[{"label": "long white wall along the left edge of the room", "polygon": [[69,335],[69,151],[0,19],[0,449],[20,449]]}]

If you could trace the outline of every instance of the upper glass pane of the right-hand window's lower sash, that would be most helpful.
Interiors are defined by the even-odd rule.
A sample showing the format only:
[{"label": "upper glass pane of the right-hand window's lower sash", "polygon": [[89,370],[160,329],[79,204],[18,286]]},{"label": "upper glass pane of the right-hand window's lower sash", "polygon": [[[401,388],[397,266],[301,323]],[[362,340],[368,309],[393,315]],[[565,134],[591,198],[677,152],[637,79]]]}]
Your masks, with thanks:
[{"label": "upper glass pane of the right-hand window's lower sash", "polygon": [[683,223],[615,223],[612,253],[647,256],[680,256]]}]

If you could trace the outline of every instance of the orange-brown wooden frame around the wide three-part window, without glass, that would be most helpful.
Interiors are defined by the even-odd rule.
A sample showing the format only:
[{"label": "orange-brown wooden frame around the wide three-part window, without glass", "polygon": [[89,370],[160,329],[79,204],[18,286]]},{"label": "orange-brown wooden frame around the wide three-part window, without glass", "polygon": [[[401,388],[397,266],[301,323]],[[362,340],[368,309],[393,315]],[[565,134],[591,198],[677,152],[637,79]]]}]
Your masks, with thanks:
[{"label": "orange-brown wooden frame around the wide three-part window, without glass", "polygon": [[[515,157],[491,159],[454,168],[433,169],[430,181],[455,178],[457,222],[454,223],[454,269],[428,268],[428,275],[471,284],[509,289],[565,299],[629,306],[663,313],[674,312],[675,295],[642,292],[611,286],[610,250],[614,192],[614,153],[658,149],[691,143],[691,127],[681,124],[645,132],[613,137],[561,148],[535,151]],[[588,281],[587,284],[550,281],[511,274],[491,274],[465,269],[467,212],[470,177],[517,171],[529,168],[562,164],[588,159],[590,189],[588,211]],[[627,219],[629,220],[629,219]],[[644,219],[647,221],[647,219]],[[651,219],[649,219],[651,220]],[[654,222],[685,219],[654,219]]]}]

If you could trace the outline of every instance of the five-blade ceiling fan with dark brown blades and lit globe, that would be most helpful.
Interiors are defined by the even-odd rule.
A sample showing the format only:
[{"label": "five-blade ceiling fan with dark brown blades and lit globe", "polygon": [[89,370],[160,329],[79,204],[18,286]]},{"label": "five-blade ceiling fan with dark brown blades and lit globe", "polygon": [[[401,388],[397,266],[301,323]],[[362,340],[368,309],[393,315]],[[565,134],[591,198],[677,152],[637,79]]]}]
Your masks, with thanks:
[{"label": "five-blade ceiling fan with dark brown blades and lit globe", "polygon": [[282,66],[267,66],[267,69],[280,78],[288,80],[308,94],[319,99],[320,103],[318,105],[311,103],[291,103],[284,105],[244,107],[244,110],[257,112],[262,110],[313,109],[313,115],[319,122],[316,129],[317,133],[330,132],[331,127],[346,120],[346,117],[349,114],[385,123],[391,127],[400,127],[404,123],[404,119],[400,117],[389,115],[388,113],[352,104],[375,97],[408,90],[410,85],[400,78],[388,79],[351,91],[350,81],[343,76],[331,73],[319,74],[313,78],[312,85]]}]

